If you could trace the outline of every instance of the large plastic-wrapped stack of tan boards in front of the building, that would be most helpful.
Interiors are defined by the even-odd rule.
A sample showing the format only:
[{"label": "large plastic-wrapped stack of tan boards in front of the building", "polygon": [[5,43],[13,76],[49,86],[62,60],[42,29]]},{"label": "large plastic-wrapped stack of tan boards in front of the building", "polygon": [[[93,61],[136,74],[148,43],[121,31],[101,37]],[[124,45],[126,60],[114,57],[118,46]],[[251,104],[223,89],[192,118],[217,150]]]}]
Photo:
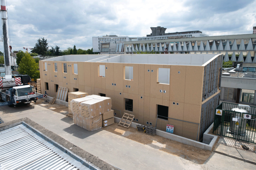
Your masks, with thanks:
[{"label": "large plastic-wrapped stack of tan boards in front of the building", "polygon": [[[111,98],[98,95],[85,96],[70,101],[74,123],[88,131],[114,124],[114,111],[111,110],[111,107]],[[104,123],[105,121],[107,122]]]}]

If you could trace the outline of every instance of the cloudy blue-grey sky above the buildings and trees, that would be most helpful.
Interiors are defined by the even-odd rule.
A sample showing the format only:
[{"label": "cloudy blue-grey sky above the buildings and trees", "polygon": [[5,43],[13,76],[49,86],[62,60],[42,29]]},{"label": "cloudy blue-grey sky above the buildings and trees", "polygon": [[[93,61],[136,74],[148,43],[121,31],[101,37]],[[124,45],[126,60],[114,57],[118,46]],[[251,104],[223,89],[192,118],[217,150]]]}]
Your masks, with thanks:
[{"label": "cloudy blue-grey sky above the buildings and trees", "polygon": [[[150,27],[165,32],[252,32],[256,0],[7,0],[12,50],[49,46],[92,48],[92,37],[141,37]],[[0,51],[3,43],[0,42]]]}]

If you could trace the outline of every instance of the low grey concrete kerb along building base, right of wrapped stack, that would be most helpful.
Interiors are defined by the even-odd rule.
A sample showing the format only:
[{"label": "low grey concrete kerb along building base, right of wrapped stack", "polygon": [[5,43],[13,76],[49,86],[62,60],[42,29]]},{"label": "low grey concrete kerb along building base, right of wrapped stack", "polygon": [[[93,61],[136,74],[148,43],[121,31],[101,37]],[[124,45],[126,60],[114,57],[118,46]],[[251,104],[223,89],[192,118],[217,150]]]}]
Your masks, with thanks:
[{"label": "low grey concrete kerb along building base, right of wrapped stack", "polygon": [[[119,118],[119,117],[114,117],[114,118],[115,118],[116,123],[119,123],[120,120],[121,120],[121,118]],[[137,125],[140,125],[140,124],[132,122],[130,127],[136,128]],[[213,124],[209,128],[211,128],[212,126],[213,126]],[[209,131],[210,131],[210,129],[209,129]],[[206,131],[205,133],[208,133],[209,131]],[[207,140],[208,140],[209,144],[205,144],[205,143],[202,143],[202,142],[198,142],[198,141],[195,141],[195,140],[192,140],[192,139],[184,138],[182,136],[174,135],[172,133],[168,133],[168,132],[160,131],[160,130],[156,130],[156,135],[167,138],[167,139],[171,139],[171,140],[183,143],[183,144],[187,144],[187,145],[195,146],[195,147],[198,147],[198,148],[201,148],[201,149],[209,150],[209,151],[212,151],[212,147],[213,147],[213,145],[215,144],[215,142],[218,138],[217,136],[207,134],[207,135],[209,135],[207,137]]]}]

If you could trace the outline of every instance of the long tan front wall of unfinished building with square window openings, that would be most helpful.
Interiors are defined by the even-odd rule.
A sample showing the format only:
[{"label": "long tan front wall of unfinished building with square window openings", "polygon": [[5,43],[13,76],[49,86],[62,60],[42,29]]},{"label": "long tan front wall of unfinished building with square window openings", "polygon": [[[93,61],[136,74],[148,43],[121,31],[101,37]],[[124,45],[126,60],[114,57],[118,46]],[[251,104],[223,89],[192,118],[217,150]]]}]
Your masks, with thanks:
[{"label": "long tan front wall of unfinished building with square window openings", "polygon": [[[114,110],[116,117],[121,117],[126,112],[135,116],[136,123],[151,124],[151,126],[156,126],[157,105],[168,106],[168,117],[170,118],[168,120],[158,119],[157,129],[165,131],[166,124],[172,124],[174,125],[174,134],[192,138],[189,133],[184,132],[192,126],[192,129],[189,130],[192,131],[192,136],[197,133],[197,129],[193,128],[193,125],[184,124],[180,120],[200,122],[203,67],[52,61],[52,72],[54,62],[58,64],[58,73],[49,75],[51,79],[55,77],[54,75],[57,77],[53,78],[52,82],[46,79],[46,75],[42,79],[42,91],[45,91],[44,82],[49,83],[50,89],[47,91],[49,96],[56,95],[54,84],[69,88],[69,92],[73,92],[76,88],[89,95],[103,93],[112,99],[112,108],[116,109]],[[67,73],[62,73],[63,63],[67,63]],[[74,63],[78,65],[78,74],[73,74],[72,64]],[[99,77],[99,65],[105,65],[106,77]],[[133,67],[133,80],[124,80],[125,66]],[[40,62],[40,67],[43,67],[43,62]],[[49,68],[47,67],[47,70]],[[157,83],[158,68],[170,68],[170,84]],[[41,71],[40,74],[44,74],[44,72],[46,71]],[[163,92],[164,90],[166,93]],[[125,98],[133,100],[132,112],[125,110]],[[121,111],[121,115],[118,110]]]}]

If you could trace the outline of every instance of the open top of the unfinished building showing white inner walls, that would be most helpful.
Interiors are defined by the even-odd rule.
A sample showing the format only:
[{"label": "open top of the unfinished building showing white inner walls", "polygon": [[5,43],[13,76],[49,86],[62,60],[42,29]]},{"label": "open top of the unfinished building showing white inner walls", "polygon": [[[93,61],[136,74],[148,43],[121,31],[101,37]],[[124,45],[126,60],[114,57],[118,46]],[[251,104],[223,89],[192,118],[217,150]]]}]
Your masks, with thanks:
[{"label": "open top of the unfinished building showing white inner walls", "polygon": [[109,62],[203,66],[221,54],[94,54],[65,55],[44,61]]}]

